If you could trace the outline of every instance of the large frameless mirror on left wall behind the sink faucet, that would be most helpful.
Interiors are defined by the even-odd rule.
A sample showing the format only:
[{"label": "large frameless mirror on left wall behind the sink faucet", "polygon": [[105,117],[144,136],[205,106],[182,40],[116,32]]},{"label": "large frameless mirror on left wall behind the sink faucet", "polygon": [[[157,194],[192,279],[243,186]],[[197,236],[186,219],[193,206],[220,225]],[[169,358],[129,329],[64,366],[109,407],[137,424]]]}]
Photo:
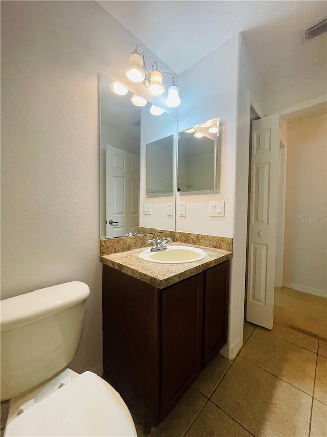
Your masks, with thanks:
[{"label": "large frameless mirror on left wall behind the sink faucet", "polygon": [[100,74],[100,238],[174,231],[177,120],[115,84]]}]

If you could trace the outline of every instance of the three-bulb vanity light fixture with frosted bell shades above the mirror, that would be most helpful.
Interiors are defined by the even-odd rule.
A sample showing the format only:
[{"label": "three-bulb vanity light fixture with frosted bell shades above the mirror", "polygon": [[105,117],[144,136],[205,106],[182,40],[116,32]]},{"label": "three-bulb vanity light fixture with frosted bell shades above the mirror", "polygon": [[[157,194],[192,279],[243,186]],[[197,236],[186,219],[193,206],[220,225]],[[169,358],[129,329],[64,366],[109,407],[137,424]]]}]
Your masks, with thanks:
[{"label": "three-bulb vanity light fixture with frosted bell shades above the mirror", "polygon": [[161,96],[165,92],[165,86],[162,84],[162,76],[164,74],[170,76],[173,82],[168,88],[168,96],[165,100],[165,103],[171,108],[176,108],[180,105],[181,100],[179,98],[179,90],[175,84],[173,76],[166,71],[161,73],[158,69],[158,63],[156,61],[152,64],[151,73],[148,73],[143,51],[140,46],[136,46],[134,52],[129,57],[129,66],[126,70],[126,76],[128,79],[136,84],[143,82],[145,87],[148,88],[150,94],[153,96]]}]

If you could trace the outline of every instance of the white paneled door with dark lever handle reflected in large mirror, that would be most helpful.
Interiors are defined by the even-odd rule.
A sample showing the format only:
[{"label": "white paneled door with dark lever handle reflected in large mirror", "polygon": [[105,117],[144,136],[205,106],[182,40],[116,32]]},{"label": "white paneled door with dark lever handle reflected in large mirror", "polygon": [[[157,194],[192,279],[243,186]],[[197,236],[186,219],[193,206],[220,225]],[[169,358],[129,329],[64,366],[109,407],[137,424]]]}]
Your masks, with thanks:
[{"label": "white paneled door with dark lever handle reflected in large mirror", "polygon": [[138,233],[139,156],[107,145],[106,238]]}]

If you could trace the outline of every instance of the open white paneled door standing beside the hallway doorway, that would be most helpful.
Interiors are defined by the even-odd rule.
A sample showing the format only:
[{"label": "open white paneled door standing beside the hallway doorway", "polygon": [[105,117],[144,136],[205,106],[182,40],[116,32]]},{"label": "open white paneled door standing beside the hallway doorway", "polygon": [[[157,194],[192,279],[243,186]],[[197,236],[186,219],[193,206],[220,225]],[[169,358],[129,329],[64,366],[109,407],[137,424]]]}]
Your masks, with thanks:
[{"label": "open white paneled door standing beside the hallway doorway", "polygon": [[279,184],[279,115],[252,124],[246,319],[272,329]]}]

